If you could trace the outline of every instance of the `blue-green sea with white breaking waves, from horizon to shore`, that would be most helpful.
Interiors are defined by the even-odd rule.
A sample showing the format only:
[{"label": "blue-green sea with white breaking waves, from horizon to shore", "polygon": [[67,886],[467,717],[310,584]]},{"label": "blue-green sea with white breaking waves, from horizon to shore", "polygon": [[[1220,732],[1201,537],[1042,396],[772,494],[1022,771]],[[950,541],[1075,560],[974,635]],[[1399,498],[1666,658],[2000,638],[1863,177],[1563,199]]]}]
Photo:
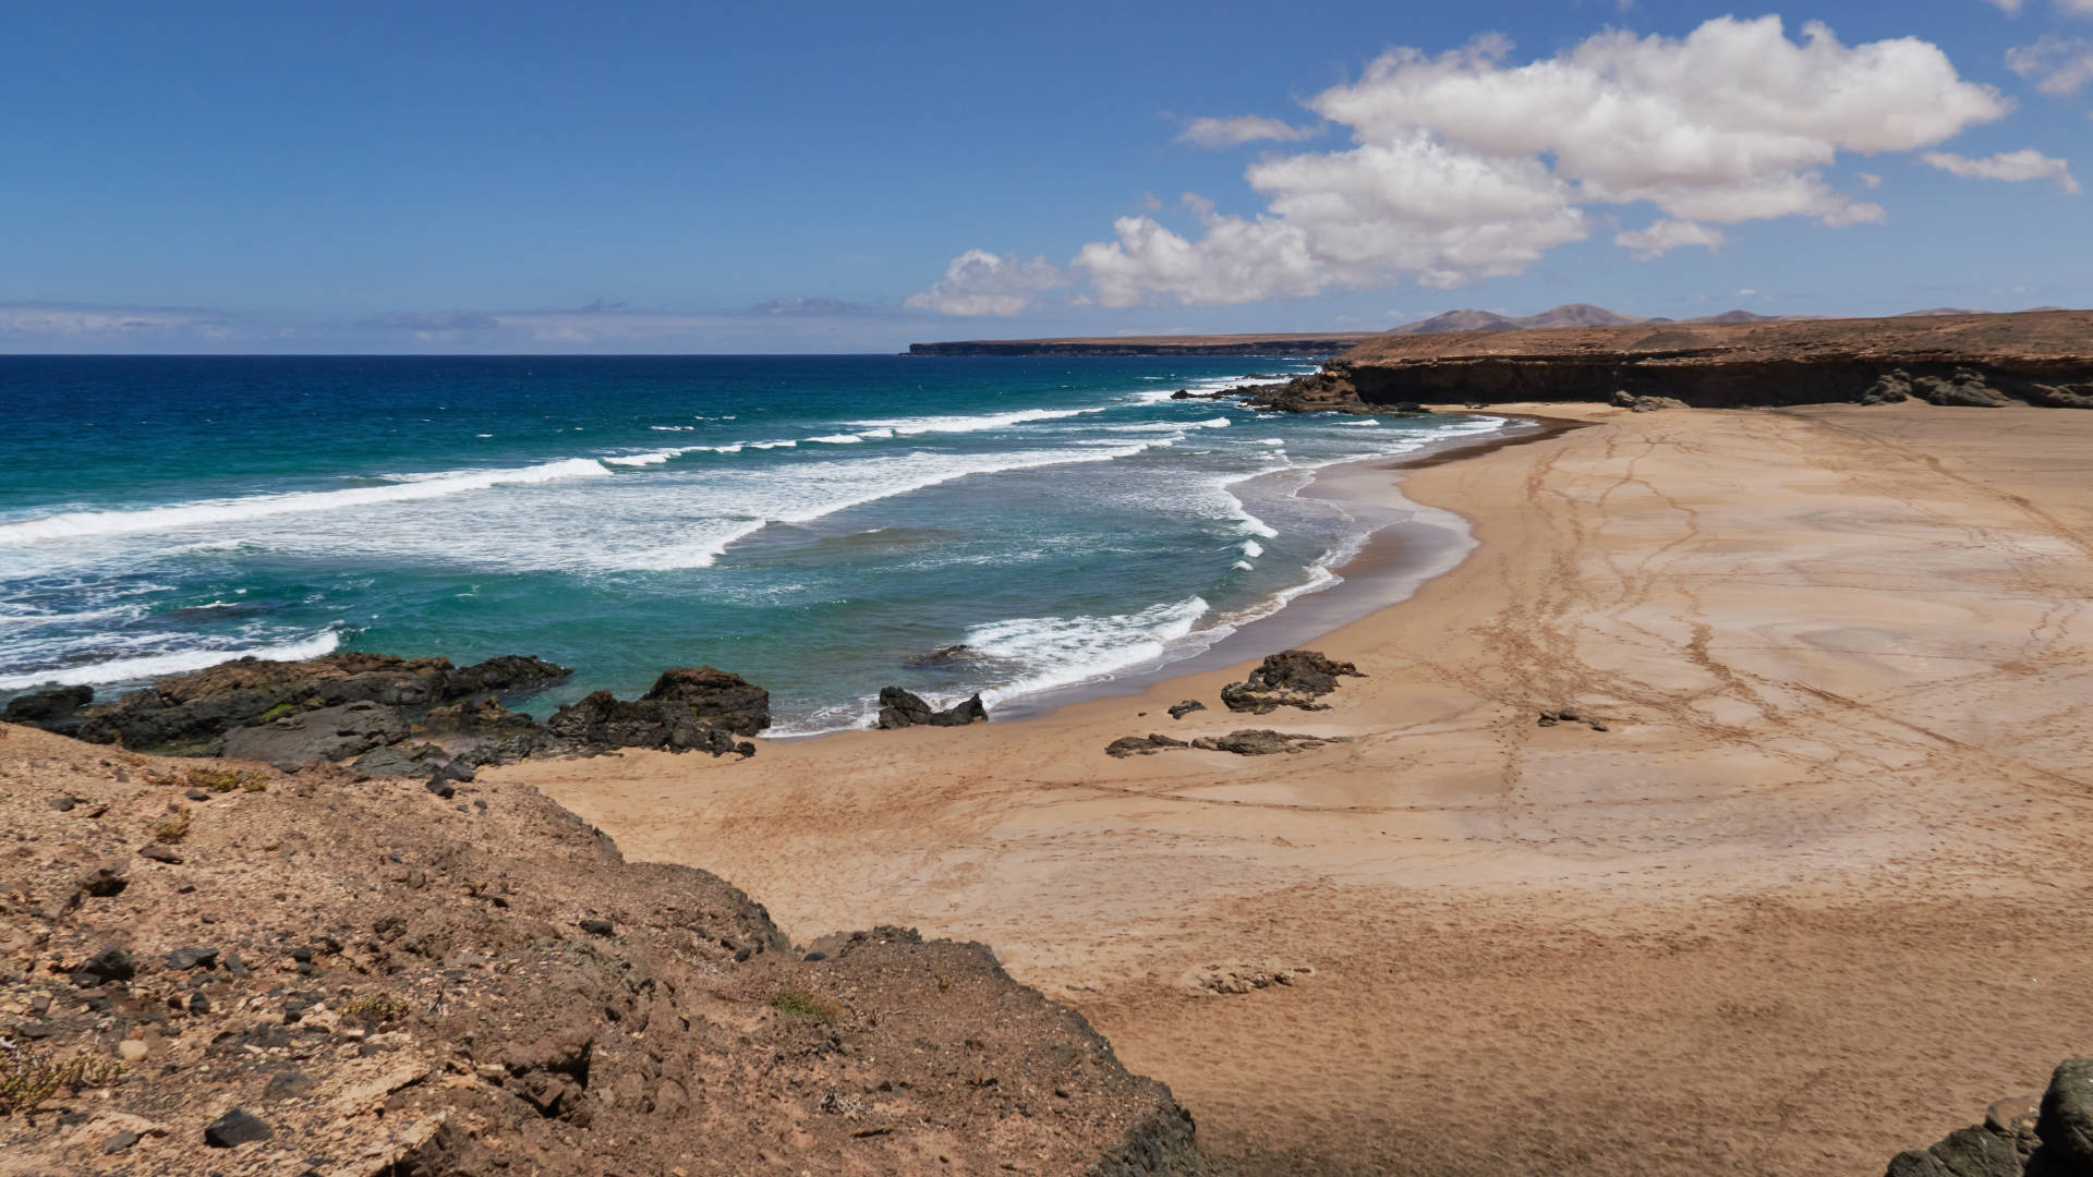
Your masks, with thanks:
[{"label": "blue-green sea with white breaking waves, from horizon to shore", "polygon": [[1312,469],[1496,427],[1170,400],[1312,367],[0,356],[0,695],[536,653],[534,712],[712,664],[812,733],[1153,668],[1333,582]]}]

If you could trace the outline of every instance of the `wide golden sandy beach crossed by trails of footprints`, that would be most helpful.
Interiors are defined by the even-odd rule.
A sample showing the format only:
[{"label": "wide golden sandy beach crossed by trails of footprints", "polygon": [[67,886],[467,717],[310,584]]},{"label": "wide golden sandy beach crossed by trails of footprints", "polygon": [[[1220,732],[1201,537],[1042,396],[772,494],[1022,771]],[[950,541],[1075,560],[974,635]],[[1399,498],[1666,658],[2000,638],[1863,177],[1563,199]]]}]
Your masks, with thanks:
[{"label": "wide golden sandy beach crossed by trails of footprints", "polygon": [[[1880,1173],[2093,1051],[2093,413],[1505,408],[1589,427],[1386,473],[1478,547],[1302,643],[1327,712],[1222,710],[1245,649],[488,777],[802,942],[988,942],[1247,1173]],[[1237,727],[1352,741],[1103,752]]]}]

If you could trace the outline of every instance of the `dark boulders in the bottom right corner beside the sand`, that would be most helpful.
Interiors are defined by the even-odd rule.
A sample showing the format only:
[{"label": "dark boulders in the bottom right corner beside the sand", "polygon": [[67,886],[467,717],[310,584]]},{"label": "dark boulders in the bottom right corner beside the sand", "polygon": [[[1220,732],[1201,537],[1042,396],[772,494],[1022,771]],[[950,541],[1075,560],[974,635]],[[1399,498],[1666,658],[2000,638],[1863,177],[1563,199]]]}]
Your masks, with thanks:
[{"label": "dark boulders in the bottom right corner beside the sand", "polygon": [[2070,1058],[2041,1095],[1999,1100],[1984,1123],[1900,1152],[1886,1177],[2093,1177],[2093,1058]]}]

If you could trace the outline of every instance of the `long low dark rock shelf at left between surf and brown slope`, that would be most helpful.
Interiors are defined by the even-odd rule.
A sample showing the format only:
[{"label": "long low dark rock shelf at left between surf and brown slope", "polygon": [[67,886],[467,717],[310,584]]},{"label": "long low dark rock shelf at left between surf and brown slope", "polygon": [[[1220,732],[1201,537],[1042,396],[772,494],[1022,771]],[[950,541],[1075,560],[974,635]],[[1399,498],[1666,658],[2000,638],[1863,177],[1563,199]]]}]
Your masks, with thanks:
[{"label": "long low dark rock shelf at left between surf and brown slope", "polygon": [[565,666],[515,656],[473,666],[383,653],[329,653],[306,662],[241,658],[88,706],[80,712],[77,735],[136,752],[216,756],[232,729],[274,725],[301,712],[375,704],[417,714],[479,693],[538,689],[565,676]]}]

